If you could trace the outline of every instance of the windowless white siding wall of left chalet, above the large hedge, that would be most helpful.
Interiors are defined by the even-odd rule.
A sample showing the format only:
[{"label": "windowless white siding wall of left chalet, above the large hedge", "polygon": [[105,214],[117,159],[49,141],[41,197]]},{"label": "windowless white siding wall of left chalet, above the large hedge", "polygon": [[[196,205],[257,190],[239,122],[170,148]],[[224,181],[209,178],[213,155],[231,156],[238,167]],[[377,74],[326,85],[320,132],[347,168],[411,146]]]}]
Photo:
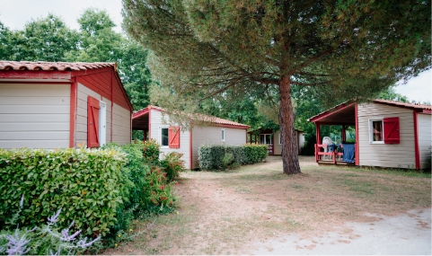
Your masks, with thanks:
[{"label": "windowless white siding wall of left chalet, above the large hedge", "polygon": [[69,103],[69,84],[0,84],[0,147],[68,147]]}]

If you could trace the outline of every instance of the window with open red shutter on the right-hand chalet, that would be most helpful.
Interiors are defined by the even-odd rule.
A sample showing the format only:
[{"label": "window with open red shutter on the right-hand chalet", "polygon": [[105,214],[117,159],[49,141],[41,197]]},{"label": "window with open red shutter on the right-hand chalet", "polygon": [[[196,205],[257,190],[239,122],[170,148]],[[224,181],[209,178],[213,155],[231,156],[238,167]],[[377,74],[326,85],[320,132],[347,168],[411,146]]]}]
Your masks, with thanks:
[{"label": "window with open red shutter on the right-hand chalet", "polygon": [[399,144],[399,118],[369,119],[370,144]]}]

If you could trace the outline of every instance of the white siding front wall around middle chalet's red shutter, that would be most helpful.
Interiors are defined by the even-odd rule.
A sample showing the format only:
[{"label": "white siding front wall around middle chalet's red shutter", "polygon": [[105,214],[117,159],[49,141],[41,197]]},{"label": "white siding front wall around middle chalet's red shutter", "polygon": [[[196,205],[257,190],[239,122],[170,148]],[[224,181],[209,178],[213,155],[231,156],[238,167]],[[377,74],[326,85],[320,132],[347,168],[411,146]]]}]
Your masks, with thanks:
[{"label": "white siding front wall around middle chalet's red shutter", "polygon": [[[165,116],[165,119],[167,117]],[[162,112],[158,110],[150,110],[150,138],[156,139],[156,141],[161,144],[160,139],[160,128],[169,127],[168,124],[163,124]],[[184,160],[184,165],[186,169],[190,169],[190,132],[181,131],[180,134],[180,148],[169,148],[161,147],[161,154],[177,152],[183,154],[182,160]],[[161,155],[161,157],[163,157]]]}]

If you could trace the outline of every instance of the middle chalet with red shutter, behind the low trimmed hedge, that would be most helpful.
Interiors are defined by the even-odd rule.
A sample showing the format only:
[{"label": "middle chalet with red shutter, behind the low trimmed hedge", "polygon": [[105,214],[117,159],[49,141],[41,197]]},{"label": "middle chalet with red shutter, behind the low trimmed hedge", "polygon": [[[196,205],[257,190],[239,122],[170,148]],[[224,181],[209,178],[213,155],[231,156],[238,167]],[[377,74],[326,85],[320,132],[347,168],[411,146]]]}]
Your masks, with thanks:
[{"label": "middle chalet with red shutter, behind the low trimmed hedge", "polygon": [[[183,154],[186,168],[197,169],[198,148],[202,145],[243,145],[246,144],[247,125],[227,119],[199,115],[206,125],[196,126],[190,130],[182,130],[178,125],[163,122],[168,119],[165,110],[156,106],[148,106],[134,113],[132,129],[143,130],[145,137],[155,139],[161,145],[161,153],[178,152]],[[164,116],[163,116],[164,115]]]}]

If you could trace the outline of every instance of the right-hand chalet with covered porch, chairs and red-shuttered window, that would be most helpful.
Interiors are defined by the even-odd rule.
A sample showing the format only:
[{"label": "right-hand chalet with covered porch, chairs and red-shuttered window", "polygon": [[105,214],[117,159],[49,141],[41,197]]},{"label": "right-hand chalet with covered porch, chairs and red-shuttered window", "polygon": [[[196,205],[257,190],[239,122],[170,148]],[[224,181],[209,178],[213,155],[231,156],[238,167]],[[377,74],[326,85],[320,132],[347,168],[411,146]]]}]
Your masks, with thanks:
[{"label": "right-hand chalet with covered porch, chairs and red-shuttered window", "polygon": [[[341,103],[309,119],[316,126],[315,160],[317,163],[430,169],[431,113],[430,105],[405,102]],[[321,134],[323,125],[341,127],[339,145],[325,141],[329,138]],[[353,144],[345,142],[348,126],[355,128]]]}]

